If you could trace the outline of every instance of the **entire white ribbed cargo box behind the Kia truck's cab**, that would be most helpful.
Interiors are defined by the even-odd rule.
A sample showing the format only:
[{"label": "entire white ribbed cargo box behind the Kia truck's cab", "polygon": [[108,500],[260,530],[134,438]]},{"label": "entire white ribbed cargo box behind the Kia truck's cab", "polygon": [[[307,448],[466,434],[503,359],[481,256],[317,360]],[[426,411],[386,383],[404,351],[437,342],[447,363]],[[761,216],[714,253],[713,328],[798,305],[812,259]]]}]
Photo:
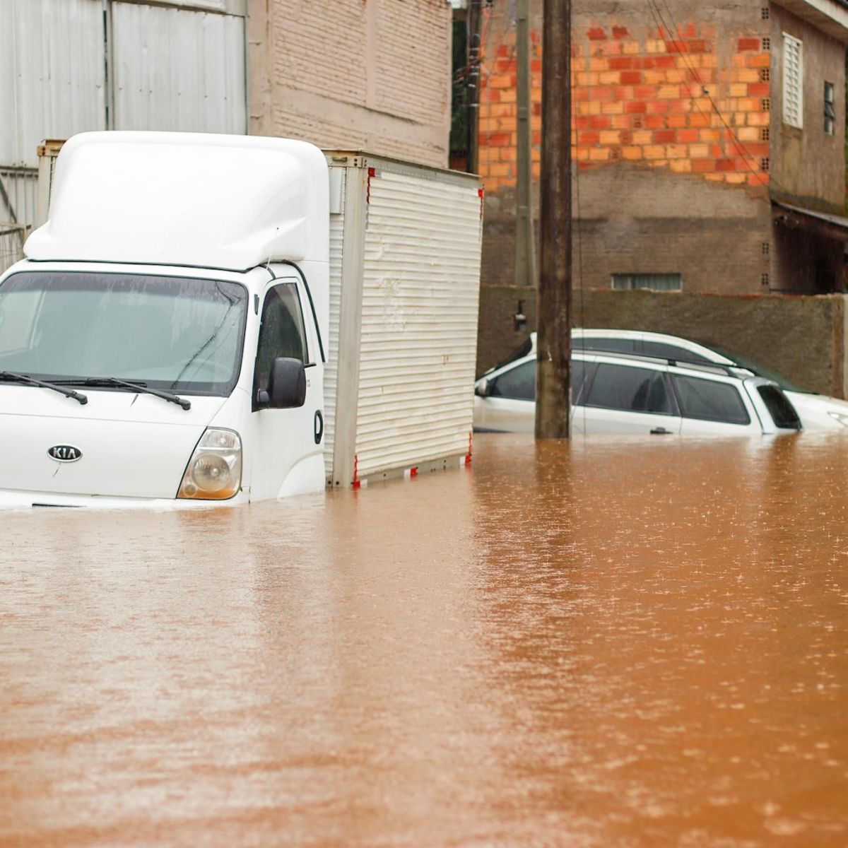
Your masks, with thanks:
[{"label": "entire white ribbed cargo box behind the Kia truck's cab", "polygon": [[325,153],[327,483],[464,463],[477,360],[479,177]]}]

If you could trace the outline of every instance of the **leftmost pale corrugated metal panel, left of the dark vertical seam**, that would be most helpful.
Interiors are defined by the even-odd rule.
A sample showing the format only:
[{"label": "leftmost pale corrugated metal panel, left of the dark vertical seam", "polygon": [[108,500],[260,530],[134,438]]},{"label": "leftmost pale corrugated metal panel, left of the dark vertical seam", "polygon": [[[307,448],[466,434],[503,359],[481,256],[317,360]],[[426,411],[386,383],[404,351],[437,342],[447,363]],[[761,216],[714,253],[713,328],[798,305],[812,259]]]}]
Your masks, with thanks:
[{"label": "leftmost pale corrugated metal panel, left of the dark vertical seam", "polygon": [[99,0],[0,0],[0,165],[42,138],[105,129]]}]

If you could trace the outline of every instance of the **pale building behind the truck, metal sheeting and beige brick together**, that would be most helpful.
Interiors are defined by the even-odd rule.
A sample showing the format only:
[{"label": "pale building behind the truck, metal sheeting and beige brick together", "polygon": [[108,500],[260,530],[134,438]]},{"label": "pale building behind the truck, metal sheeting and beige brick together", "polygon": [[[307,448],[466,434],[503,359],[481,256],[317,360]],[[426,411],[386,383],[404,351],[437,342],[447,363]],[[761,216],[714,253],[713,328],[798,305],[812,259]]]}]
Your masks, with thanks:
[{"label": "pale building behind the truck, metal sheeting and beige brick together", "polygon": [[449,0],[0,0],[0,270],[36,221],[42,139],[301,138],[446,167]]}]

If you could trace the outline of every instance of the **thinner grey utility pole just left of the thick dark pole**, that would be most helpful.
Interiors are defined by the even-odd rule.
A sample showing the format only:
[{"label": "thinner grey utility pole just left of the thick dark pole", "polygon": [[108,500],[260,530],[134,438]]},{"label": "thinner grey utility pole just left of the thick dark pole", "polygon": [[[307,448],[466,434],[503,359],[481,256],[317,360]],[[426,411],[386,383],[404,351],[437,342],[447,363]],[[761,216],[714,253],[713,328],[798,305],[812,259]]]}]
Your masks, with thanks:
[{"label": "thinner grey utility pole just left of the thick dark pole", "polygon": [[533,132],[530,126],[530,0],[516,3],[516,286],[536,285],[533,237]]}]

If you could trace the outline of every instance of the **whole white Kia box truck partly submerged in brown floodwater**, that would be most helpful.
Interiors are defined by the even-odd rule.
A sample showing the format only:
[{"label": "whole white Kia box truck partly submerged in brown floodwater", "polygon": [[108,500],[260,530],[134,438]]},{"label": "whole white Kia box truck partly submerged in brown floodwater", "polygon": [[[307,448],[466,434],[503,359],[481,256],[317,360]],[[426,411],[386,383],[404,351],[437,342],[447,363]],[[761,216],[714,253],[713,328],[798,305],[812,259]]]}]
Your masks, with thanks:
[{"label": "whole white Kia box truck partly submerged in brown floodwater", "polygon": [[0,506],[235,505],[470,460],[477,177],[96,132],[48,189],[0,277]]}]

